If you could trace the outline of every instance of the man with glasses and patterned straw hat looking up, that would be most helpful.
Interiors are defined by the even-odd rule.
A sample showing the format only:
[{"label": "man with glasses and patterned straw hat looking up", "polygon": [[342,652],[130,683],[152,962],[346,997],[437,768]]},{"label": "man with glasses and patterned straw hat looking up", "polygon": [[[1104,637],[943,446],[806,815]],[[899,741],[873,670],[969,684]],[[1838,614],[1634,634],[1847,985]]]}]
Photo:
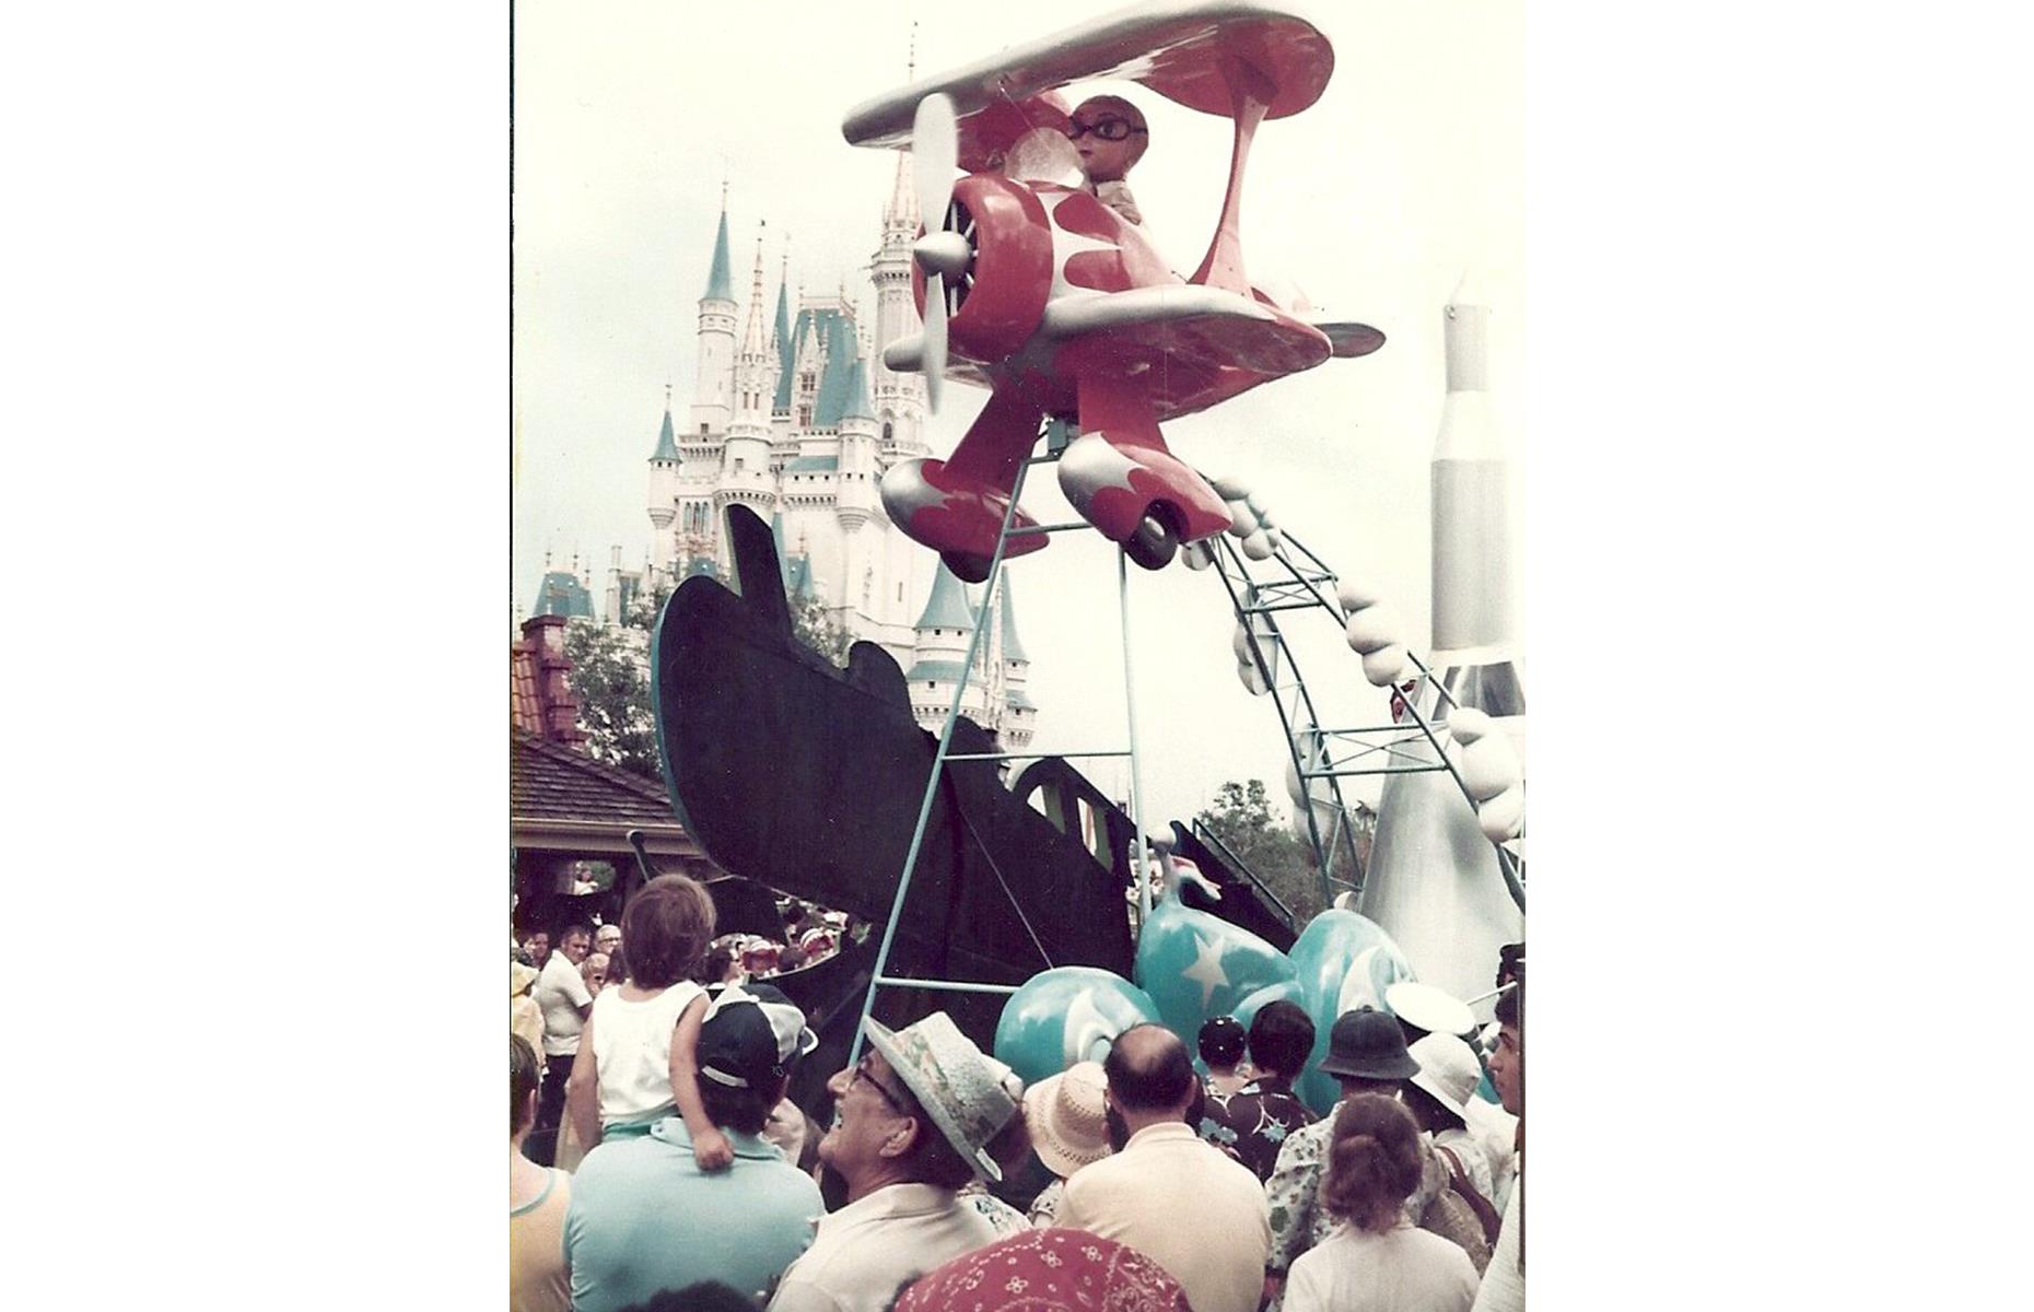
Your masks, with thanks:
[{"label": "man with glasses and patterned straw hat looking up", "polygon": [[826,1084],[836,1119],[820,1139],[848,1202],[820,1220],[771,1312],[883,1312],[899,1288],[995,1243],[993,1222],[954,1194],[1003,1180],[1029,1147],[1023,1082],[950,1015],[899,1031],[871,1019],[866,1035],[862,1060]]}]

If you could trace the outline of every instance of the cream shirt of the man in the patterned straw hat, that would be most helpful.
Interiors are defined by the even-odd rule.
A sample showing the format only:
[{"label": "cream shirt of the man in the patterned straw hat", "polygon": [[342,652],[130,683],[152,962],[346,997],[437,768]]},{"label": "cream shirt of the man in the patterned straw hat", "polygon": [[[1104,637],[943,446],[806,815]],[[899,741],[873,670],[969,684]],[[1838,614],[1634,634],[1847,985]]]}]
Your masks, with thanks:
[{"label": "cream shirt of the man in the patterned straw hat", "polygon": [[995,1243],[989,1218],[936,1184],[889,1184],[820,1220],[769,1312],[887,1312],[897,1286]]}]

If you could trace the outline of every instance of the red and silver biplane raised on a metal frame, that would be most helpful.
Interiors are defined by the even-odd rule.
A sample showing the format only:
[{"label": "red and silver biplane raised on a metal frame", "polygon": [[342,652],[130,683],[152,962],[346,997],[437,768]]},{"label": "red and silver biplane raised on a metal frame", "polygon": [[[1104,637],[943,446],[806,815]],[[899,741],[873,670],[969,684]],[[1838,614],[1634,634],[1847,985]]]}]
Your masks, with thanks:
[{"label": "red and silver biplane raised on a metal frame", "polygon": [[[911,269],[925,327],[891,344],[883,362],[923,370],[934,405],[942,378],[991,389],[950,460],[883,476],[883,506],[905,535],[960,578],[986,578],[1017,470],[1045,419],[1080,433],[1060,458],[1068,500],[1139,565],[1157,570],[1180,543],[1231,525],[1214,488],[1165,450],[1159,423],[1383,346],[1375,327],[1304,317],[1304,303],[1281,303],[1243,273],[1243,169],[1257,124],[1312,106],[1332,69],[1328,39],[1285,4],[1170,0],[848,114],[848,142],[911,146],[928,216]],[[1235,122],[1222,212],[1188,279],[1080,185],[1058,87],[1104,77]],[[1021,511],[1011,523],[1035,527]],[[1005,555],[1043,545],[1043,533],[1013,535]]]}]

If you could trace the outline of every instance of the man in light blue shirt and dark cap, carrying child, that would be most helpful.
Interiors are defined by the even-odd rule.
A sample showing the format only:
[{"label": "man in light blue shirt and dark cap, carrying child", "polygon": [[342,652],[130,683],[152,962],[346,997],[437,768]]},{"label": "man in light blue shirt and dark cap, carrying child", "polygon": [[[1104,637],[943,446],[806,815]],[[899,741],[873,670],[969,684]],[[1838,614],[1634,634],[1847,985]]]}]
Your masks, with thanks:
[{"label": "man in light blue shirt and dark cap, carrying child", "polygon": [[706,1279],[769,1296],[826,1212],[812,1176],[761,1137],[791,1064],[816,1043],[777,989],[730,985],[714,999],[700,1025],[700,1100],[734,1164],[702,1172],[677,1115],[590,1151],[565,1214],[576,1312],[618,1312]]}]

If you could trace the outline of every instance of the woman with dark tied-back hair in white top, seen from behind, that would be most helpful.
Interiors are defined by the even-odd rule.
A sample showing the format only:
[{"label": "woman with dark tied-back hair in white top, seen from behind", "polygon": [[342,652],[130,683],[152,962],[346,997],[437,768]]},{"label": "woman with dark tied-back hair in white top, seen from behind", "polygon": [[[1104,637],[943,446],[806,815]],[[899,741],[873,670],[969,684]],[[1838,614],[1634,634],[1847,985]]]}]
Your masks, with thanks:
[{"label": "woman with dark tied-back hair in white top, seen from behind", "polygon": [[1283,1312],[1469,1312],[1469,1255],[1403,1216],[1422,1168],[1420,1127],[1397,1100],[1342,1102],[1320,1188],[1340,1225],[1292,1263]]}]

